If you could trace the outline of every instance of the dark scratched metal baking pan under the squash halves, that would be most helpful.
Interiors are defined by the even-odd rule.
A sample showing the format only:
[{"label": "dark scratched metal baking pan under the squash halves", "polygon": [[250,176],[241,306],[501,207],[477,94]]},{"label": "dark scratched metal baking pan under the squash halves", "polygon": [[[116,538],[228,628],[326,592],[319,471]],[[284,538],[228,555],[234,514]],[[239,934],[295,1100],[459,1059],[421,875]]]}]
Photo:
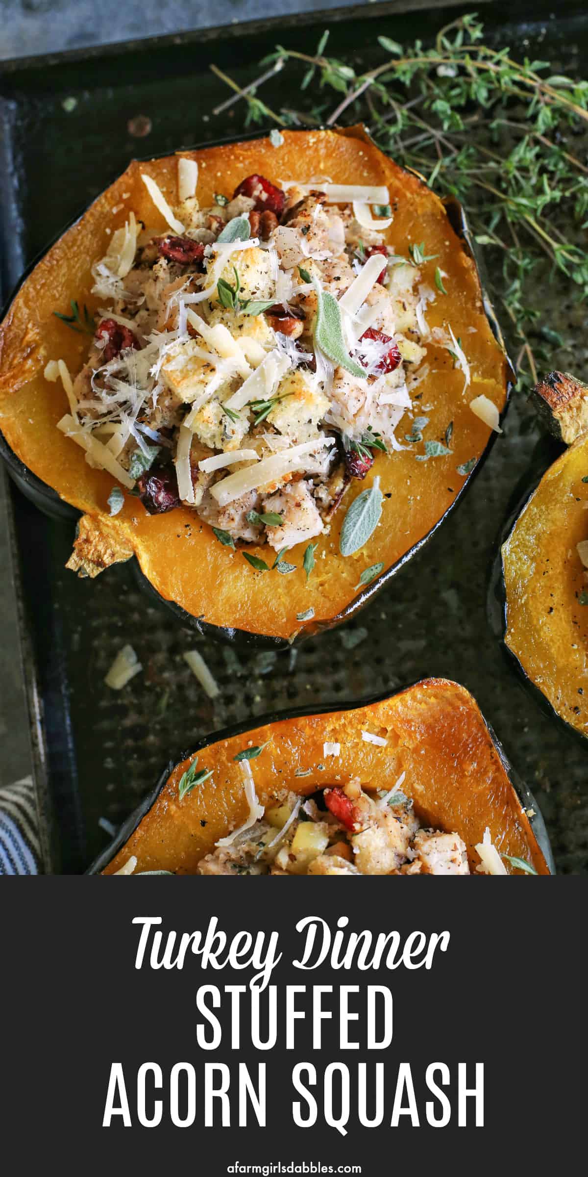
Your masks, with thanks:
[{"label": "dark scratched metal baking pan under the squash halves", "polygon": [[[7,62],[0,74],[4,298],[132,157],[242,138],[240,104],[212,115],[227,91],[211,64],[246,85],[278,41],[307,48],[329,27],[333,55],[369,68],[381,61],[377,35],[428,40],[455,12],[414,7],[369,5]],[[483,13],[489,39],[529,56],[549,55],[557,71],[577,71],[588,56],[588,14],[580,5],[568,4],[566,15],[553,19],[542,0],[489,4]],[[269,106],[295,108],[299,81],[283,71],[263,98]],[[322,92],[322,99],[336,105],[335,94]],[[151,122],[143,138],[129,131],[139,117]],[[542,299],[552,327],[577,313],[557,284],[546,281]],[[356,619],[285,653],[236,653],[183,629],[167,609],[149,603],[125,565],[92,583],[76,579],[64,568],[73,521],[47,518],[12,485],[13,564],[46,869],[83,871],[179,746],[195,746],[246,720],[253,726],[267,712],[346,705],[439,674],[463,683],[477,698],[537,798],[557,870],[584,872],[584,750],[543,717],[509,671],[486,610],[513,486],[530,468],[537,437],[530,410],[515,393],[505,437],[459,511]],[[113,692],[103,677],[125,641],[143,672]],[[182,658],[189,649],[213,671],[216,699],[192,677]]]}]

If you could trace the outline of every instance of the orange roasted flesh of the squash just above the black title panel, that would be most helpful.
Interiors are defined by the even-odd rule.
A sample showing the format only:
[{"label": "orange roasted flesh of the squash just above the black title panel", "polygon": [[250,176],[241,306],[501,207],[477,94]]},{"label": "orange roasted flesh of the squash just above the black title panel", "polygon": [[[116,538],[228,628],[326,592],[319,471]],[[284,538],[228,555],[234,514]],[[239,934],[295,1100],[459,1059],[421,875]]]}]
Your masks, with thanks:
[{"label": "orange roasted flesh of the squash just above the black title panel", "polygon": [[[383,736],[387,745],[366,743],[362,730]],[[362,707],[282,719],[208,745],[198,752],[198,766],[212,769],[213,776],[180,802],[178,784],[194,756],[178,764],[103,873],[115,873],[135,855],[136,872],[194,875],[199,860],[247,817],[243,774],[234,757],[266,740],[268,746],[249,762],[263,806],[283,790],[308,794],[352,778],[365,787],[390,789],[406,772],[402,790],[413,798],[416,816],[423,825],[459,833],[470,870],[480,862],[474,846],[488,826],[500,853],[526,859],[539,875],[549,873],[475,699],[447,679],[427,679]],[[339,757],[325,756],[326,742],[341,745]],[[308,769],[308,777],[295,776]]]}]

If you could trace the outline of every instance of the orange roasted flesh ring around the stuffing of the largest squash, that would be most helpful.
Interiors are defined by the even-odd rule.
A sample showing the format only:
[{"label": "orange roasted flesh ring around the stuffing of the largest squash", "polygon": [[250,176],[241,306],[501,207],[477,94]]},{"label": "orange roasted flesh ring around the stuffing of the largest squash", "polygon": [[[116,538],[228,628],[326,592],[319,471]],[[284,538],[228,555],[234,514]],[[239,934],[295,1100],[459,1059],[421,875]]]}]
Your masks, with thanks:
[{"label": "orange roasted flesh ring around the stuffing of the largest squash", "polygon": [[[502,410],[508,385],[507,361],[485,314],[475,265],[439,198],[416,175],[377,151],[361,128],[345,133],[287,131],[283,139],[280,147],[263,139],[182,153],[198,160],[201,205],[212,202],[219,189],[230,195],[253,172],[276,182],[328,175],[333,182],[387,185],[394,208],[387,239],[405,255],[408,242],[425,242],[426,253],[436,255],[422,267],[422,280],[434,286],[439,266],[448,293],[439,294],[428,307],[427,320],[430,327],[452,325],[472,370],[472,385],[463,395],[462,372],[454,368],[445,347],[429,345],[430,371],[419,387],[416,405],[432,406],[427,408],[427,437],[432,439],[443,440],[453,421],[452,454],[416,461],[414,446],[389,458],[380,454],[367,479],[353,484],[329,534],[320,538],[316,567],[308,583],[301,567],[305,545],[292,548],[288,556],[298,565],[295,573],[272,576],[256,572],[241,552],[221,546],[211,528],[186,508],[149,516],[138,499],[127,496],[120,514],[109,520],[107,498],[113,478],[92,470],[83,452],[55,428],[68,406],[61,385],[44,379],[45,365],[62,358],[75,373],[88,339],[67,330],[53,312],[67,312],[72,298],[95,311],[100,300],[91,294],[91,265],[105,254],[109,233],[125,224],[129,210],[149,226],[166,227],[140,177],[152,175],[174,204],[178,157],[132,162],[39,262],[0,328],[0,425],[25,465],[86,512],[94,528],[108,521],[109,533],[115,528],[122,558],[134,552],[145,576],[166,600],[209,625],[278,639],[300,631],[296,614],[309,610],[314,610],[310,630],[329,624],[358,597],[365,568],[380,561],[386,570],[393,567],[442,519],[465,483],[456,467],[479,458],[492,432],[468,403],[483,393]],[[368,543],[343,559],[339,533],[346,510],[375,476],[390,498],[385,499],[381,521]],[[267,548],[248,550],[267,557]]]}]

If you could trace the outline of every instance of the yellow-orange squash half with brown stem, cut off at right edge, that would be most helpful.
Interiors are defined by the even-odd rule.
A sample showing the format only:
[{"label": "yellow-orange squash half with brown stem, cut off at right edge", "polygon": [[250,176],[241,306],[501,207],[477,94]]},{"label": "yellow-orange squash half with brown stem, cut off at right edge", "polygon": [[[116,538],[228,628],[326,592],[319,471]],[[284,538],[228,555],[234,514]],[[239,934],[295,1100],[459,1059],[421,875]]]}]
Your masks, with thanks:
[{"label": "yellow-orange squash half with brown stem, cut off at right edge", "polygon": [[[588,734],[588,387],[552,372],[534,390],[569,448],[542,474],[502,545],[505,643],[550,707]],[[587,558],[588,559],[588,558]]]}]

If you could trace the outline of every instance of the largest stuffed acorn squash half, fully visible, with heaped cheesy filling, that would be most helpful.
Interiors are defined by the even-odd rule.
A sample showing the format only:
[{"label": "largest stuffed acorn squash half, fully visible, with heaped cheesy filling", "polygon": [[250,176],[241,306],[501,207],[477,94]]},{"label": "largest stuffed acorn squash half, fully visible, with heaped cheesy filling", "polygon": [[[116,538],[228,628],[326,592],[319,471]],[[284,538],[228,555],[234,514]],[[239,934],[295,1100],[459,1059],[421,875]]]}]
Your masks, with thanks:
[{"label": "largest stuffed acorn squash half, fully visible, with heaped cheesy filling", "polygon": [[[455,501],[506,404],[455,206],[361,128],[133,162],[0,333],[0,423],[212,632],[329,626]],[[367,587],[369,586],[369,587]]]}]

